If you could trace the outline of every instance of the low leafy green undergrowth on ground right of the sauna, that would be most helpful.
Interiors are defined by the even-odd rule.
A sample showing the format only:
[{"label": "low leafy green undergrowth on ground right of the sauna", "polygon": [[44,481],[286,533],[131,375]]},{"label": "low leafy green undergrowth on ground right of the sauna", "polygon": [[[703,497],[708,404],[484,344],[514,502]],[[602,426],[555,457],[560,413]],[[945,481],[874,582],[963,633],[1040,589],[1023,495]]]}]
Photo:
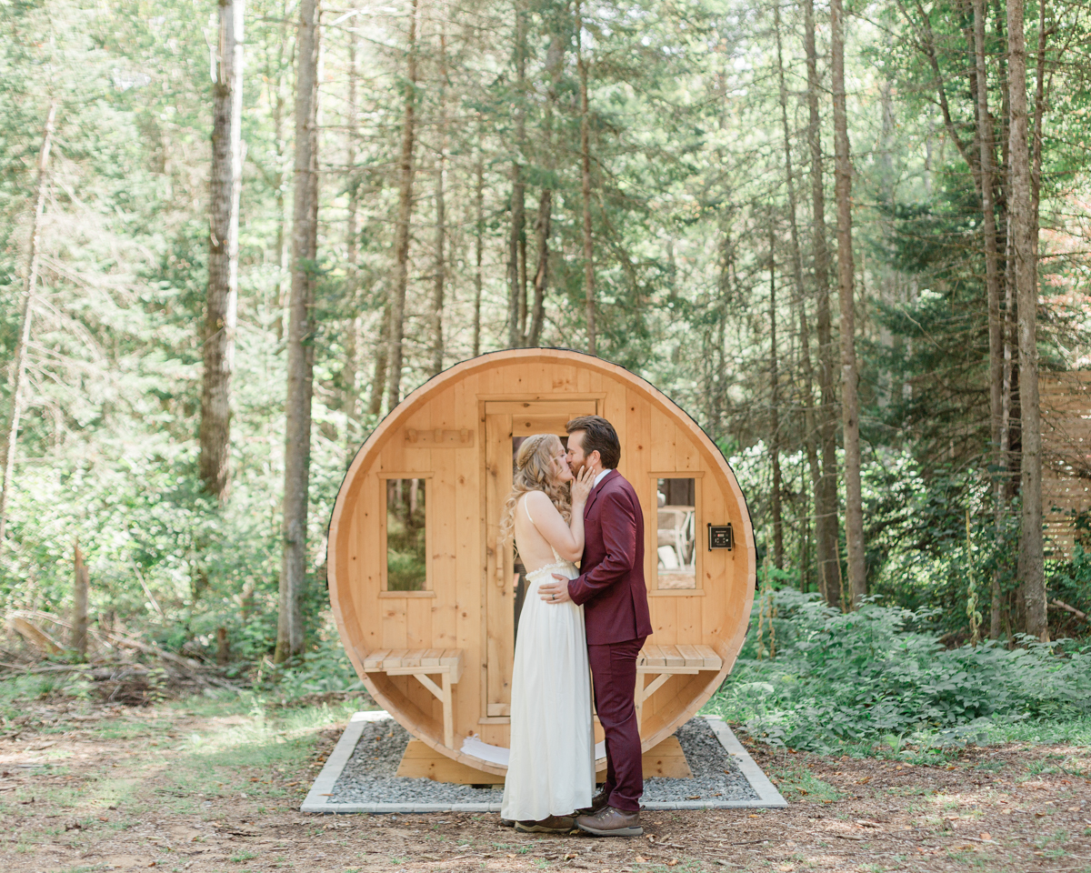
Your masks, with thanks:
[{"label": "low leafy green undergrowth on ground right of the sauna", "polygon": [[935,745],[1091,714],[1091,653],[1031,639],[945,649],[921,632],[923,610],[868,602],[842,614],[788,590],[776,605],[776,657],[755,657],[752,627],[709,703],[763,742],[826,752],[894,734]]}]

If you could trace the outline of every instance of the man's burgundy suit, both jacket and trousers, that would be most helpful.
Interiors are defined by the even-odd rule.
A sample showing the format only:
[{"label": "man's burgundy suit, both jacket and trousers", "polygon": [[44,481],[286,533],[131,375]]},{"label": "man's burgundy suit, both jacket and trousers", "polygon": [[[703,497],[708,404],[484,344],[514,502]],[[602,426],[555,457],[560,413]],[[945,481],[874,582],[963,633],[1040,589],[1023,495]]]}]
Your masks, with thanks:
[{"label": "man's burgundy suit, both jacket and trousers", "polygon": [[595,708],[606,732],[609,803],[640,809],[644,772],[633,694],[636,658],[651,634],[644,582],[644,513],[625,478],[611,470],[584,507],[584,558],[568,595],[584,605]]}]

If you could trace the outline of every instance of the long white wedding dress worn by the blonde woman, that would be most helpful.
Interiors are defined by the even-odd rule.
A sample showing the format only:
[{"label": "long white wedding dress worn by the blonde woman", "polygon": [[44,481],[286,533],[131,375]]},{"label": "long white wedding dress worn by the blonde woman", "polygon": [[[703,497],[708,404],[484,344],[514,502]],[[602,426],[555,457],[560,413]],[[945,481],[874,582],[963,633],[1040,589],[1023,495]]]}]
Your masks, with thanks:
[{"label": "long white wedding dress worn by the blonde woman", "polygon": [[574,579],[579,571],[555,549],[553,559],[527,573],[512,667],[512,742],[500,814],[520,822],[570,815],[590,806],[595,793],[584,608],[538,596],[553,573]]}]

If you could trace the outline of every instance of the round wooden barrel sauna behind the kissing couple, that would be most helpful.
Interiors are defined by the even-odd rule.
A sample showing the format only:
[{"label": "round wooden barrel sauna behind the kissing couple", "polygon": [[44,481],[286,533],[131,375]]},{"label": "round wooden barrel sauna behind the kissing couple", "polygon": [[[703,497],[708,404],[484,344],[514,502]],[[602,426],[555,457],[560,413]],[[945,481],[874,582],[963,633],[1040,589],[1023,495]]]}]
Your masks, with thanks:
[{"label": "round wooden barrel sauna behind the kissing couple", "polygon": [[647,752],[731,670],[755,581],[735,477],[668,397],[577,351],[482,355],[421,385],[383,419],[334,507],[329,597],[357,672],[413,737],[492,776],[506,770],[523,594],[523,569],[497,543],[514,453],[532,433],[566,439],[565,422],[589,414],[616,428],[619,470],[644,507],[655,632],[636,696]]}]

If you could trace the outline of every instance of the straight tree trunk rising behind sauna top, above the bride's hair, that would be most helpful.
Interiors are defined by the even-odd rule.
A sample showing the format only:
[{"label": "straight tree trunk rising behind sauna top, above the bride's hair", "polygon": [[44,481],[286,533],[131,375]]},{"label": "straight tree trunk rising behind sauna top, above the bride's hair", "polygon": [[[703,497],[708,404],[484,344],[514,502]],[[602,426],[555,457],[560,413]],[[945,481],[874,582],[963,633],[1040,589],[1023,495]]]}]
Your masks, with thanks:
[{"label": "straight tree trunk rising behind sauna top, above the bride's hair", "polygon": [[515,0],[515,157],[512,159],[512,227],[507,239],[507,345],[524,345],[527,323],[527,217],[523,159],[527,145],[527,15],[524,0]]}]

